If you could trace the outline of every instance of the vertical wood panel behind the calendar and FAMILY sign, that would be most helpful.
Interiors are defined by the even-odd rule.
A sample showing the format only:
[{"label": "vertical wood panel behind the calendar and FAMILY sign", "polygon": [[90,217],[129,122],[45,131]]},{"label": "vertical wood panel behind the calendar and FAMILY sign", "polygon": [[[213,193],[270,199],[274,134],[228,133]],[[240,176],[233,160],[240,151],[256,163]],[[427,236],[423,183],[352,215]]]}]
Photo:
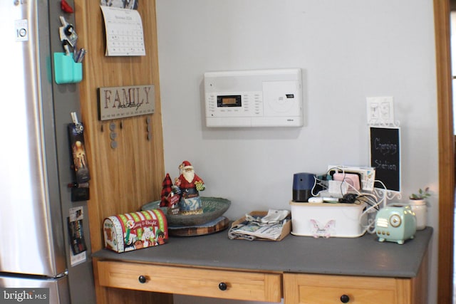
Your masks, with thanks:
[{"label": "vertical wood panel behind the calendar and FAMILY sign", "polygon": [[[138,211],[142,204],[159,199],[165,177],[155,1],[139,4],[146,50],[146,56],[140,57],[105,57],[100,1],[76,0],[75,11],[78,47],[88,50],[80,83],[80,117],[85,125],[91,174],[88,201],[91,246],[97,251],[103,248],[103,219]],[[152,120],[152,140],[147,140],[146,116],[98,121],[98,88],[147,84],[155,85],[155,114],[148,116]],[[117,132],[115,149],[111,148],[110,122],[115,124]],[[172,295],[99,286],[97,297],[98,303],[172,303]]]}]

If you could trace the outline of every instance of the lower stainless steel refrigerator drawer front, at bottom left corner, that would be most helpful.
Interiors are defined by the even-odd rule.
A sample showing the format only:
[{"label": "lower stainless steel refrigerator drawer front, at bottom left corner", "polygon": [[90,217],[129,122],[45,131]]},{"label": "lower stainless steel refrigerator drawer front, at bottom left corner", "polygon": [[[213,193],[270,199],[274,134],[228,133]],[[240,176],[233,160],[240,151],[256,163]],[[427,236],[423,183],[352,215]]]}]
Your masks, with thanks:
[{"label": "lower stainless steel refrigerator drawer front, at bottom left corner", "polygon": [[[34,301],[24,300],[24,303],[71,303],[68,295],[68,278],[66,276],[49,280],[21,278],[20,276],[0,276],[0,303],[4,303],[4,300],[8,300],[8,303],[13,303],[14,301],[11,299],[16,294],[23,295],[24,293],[30,297],[28,299],[34,299]],[[19,303],[17,300],[15,302]]]}]

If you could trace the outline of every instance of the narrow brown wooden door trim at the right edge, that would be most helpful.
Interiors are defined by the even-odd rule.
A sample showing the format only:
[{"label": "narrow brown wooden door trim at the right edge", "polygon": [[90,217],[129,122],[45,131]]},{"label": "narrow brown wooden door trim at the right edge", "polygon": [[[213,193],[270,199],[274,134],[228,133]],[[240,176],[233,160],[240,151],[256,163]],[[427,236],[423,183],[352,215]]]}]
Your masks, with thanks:
[{"label": "narrow brown wooden door trim at the right edge", "polygon": [[452,303],[455,146],[453,143],[450,5],[434,0],[439,134],[438,303]]}]

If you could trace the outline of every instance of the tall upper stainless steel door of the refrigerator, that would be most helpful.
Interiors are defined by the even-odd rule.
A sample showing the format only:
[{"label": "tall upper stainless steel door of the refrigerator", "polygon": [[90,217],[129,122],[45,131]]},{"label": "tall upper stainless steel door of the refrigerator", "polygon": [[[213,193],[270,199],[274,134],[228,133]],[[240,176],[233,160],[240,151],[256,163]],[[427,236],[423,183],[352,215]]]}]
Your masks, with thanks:
[{"label": "tall upper stainless steel door of the refrigerator", "polygon": [[51,223],[61,209],[52,87],[40,65],[50,65],[47,1],[0,1],[0,28],[0,273],[55,277],[66,263],[61,221]]}]

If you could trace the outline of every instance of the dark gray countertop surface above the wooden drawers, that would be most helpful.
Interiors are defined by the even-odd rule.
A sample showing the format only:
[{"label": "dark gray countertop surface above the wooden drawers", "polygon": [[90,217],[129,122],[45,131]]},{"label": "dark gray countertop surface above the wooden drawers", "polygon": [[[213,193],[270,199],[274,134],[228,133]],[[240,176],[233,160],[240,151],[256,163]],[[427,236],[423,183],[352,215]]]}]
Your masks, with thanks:
[{"label": "dark gray countertop surface above the wooden drawers", "polygon": [[427,227],[403,245],[380,243],[371,234],[354,239],[290,234],[282,241],[244,241],[228,239],[225,230],[207,236],[170,237],[164,245],[126,253],[103,249],[93,257],[252,271],[413,278],[431,237],[432,228]]}]

